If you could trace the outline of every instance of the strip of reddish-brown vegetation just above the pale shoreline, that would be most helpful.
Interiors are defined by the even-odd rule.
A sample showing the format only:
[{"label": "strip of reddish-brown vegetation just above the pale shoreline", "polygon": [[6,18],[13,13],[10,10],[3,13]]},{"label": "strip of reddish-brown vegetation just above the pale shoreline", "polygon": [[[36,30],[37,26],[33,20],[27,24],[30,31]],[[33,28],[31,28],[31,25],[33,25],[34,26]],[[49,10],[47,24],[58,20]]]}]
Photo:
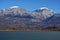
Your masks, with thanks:
[{"label": "strip of reddish-brown vegetation just above the pale shoreline", "polygon": [[0,30],[47,30],[47,31],[60,31],[60,27],[6,27],[6,28],[0,28]]}]

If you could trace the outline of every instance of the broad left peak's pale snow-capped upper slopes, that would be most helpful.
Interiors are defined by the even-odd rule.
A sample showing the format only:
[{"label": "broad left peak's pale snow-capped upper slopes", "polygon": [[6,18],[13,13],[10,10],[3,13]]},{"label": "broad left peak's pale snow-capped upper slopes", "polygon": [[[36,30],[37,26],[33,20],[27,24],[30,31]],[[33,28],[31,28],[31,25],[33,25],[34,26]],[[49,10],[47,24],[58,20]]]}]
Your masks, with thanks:
[{"label": "broad left peak's pale snow-capped upper slopes", "polygon": [[0,10],[0,14],[1,15],[11,15],[11,16],[28,16],[28,15],[30,15],[30,11],[27,11],[18,6],[13,6],[10,8]]}]

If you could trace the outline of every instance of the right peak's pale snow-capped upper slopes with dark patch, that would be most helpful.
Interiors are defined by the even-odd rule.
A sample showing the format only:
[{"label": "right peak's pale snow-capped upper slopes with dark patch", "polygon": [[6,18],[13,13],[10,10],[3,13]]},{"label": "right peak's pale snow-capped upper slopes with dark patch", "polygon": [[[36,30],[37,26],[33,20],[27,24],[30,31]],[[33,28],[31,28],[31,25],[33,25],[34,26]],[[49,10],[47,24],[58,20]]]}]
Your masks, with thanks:
[{"label": "right peak's pale snow-capped upper slopes with dark patch", "polygon": [[42,19],[46,19],[48,17],[51,17],[53,16],[54,14],[54,11],[46,8],[46,7],[42,7],[40,9],[37,9],[35,11],[32,12],[34,16],[36,16],[37,18],[42,18]]}]

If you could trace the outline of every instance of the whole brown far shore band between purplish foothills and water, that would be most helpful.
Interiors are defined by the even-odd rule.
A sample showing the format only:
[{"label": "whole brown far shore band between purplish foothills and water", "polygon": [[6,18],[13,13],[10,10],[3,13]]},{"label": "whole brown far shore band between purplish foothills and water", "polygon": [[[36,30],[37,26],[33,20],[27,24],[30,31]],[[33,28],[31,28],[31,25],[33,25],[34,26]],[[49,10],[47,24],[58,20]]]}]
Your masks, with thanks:
[{"label": "whole brown far shore band between purplish foothills and water", "polygon": [[33,27],[33,28],[0,28],[0,31],[60,31],[60,27]]}]

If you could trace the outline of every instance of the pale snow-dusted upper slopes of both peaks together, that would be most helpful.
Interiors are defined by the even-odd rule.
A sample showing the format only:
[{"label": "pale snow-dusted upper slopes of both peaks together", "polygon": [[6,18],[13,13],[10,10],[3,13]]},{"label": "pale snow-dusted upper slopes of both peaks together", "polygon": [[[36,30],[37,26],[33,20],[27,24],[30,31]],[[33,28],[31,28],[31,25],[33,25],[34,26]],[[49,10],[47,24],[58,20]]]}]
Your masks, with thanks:
[{"label": "pale snow-dusted upper slopes of both peaks together", "polygon": [[48,8],[42,7],[33,12],[30,12],[19,6],[13,6],[10,8],[0,10],[0,16],[1,15],[24,16],[24,17],[46,19],[47,17],[50,17],[53,15],[53,11],[49,10]]}]

